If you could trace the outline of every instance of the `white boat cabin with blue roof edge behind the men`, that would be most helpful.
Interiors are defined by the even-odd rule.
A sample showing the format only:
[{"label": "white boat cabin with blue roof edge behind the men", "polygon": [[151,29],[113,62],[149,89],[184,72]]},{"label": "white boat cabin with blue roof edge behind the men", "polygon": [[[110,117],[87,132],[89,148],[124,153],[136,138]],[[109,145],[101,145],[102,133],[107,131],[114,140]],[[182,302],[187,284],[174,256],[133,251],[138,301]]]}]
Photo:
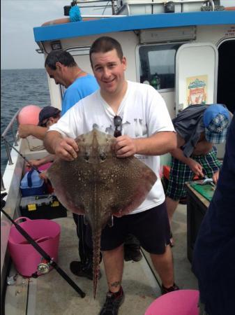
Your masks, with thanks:
[{"label": "white boat cabin with blue roof edge behind the men", "polygon": [[[218,1],[213,3],[217,11],[207,11],[209,2],[171,1],[174,13],[168,13],[159,0],[117,1],[112,17],[33,31],[45,57],[54,49],[67,50],[89,73],[93,41],[103,35],[116,38],[127,58],[126,78],[153,85],[172,118],[189,104],[225,104],[233,113],[235,12],[222,10]],[[52,106],[60,107],[64,88],[50,78],[48,83]],[[222,158],[223,148],[218,154]]]}]

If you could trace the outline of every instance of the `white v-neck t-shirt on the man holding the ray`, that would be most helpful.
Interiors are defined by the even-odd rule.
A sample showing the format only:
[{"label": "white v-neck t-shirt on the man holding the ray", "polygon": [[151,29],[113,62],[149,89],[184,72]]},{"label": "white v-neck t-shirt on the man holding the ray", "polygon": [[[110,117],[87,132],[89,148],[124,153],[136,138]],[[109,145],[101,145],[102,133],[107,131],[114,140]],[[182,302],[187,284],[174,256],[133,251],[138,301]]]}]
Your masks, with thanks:
[{"label": "white v-neck t-shirt on the man holding the ray", "polygon": [[[122,118],[122,134],[131,138],[146,138],[156,132],[174,132],[172,120],[164,99],[151,85],[128,81],[128,89],[119,106],[118,113],[100,95],[100,90],[81,99],[69,109],[50,130],[63,137],[75,139],[91,132],[93,127],[107,134],[114,134],[114,116]],[[158,176],[158,180],[142,204],[132,214],[156,207],[165,201],[165,194],[159,178],[160,157],[135,155],[148,165]]]}]

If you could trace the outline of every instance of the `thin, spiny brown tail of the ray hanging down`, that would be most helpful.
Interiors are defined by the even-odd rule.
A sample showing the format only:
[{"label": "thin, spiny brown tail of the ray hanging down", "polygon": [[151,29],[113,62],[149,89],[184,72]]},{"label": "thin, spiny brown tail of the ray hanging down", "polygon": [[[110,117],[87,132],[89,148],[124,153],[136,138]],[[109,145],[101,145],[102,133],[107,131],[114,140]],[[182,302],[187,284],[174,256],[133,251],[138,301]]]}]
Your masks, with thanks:
[{"label": "thin, spiny brown tail of the ray hanging down", "polygon": [[93,297],[96,298],[96,290],[100,272],[100,236],[101,229],[92,233],[93,237]]}]

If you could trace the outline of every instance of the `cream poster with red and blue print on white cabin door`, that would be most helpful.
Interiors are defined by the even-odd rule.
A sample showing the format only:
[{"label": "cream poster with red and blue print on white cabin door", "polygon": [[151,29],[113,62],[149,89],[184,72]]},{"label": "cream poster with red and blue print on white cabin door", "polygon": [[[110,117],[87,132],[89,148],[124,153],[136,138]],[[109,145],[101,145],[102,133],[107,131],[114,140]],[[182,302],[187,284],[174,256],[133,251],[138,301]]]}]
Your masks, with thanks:
[{"label": "cream poster with red and blue print on white cabin door", "polygon": [[208,76],[190,76],[186,78],[188,105],[206,104]]}]

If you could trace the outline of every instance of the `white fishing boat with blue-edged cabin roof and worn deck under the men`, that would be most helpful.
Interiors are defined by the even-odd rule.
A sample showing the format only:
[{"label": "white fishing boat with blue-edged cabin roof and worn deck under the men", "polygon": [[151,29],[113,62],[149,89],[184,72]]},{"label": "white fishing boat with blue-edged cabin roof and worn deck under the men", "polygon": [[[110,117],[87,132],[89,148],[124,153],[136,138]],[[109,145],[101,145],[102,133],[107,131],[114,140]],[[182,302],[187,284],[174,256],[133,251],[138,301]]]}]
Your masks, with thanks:
[{"label": "white fishing boat with blue-edged cabin roof and worn deck under the men", "polygon": [[[127,58],[126,78],[153,85],[165,99],[171,118],[189,104],[226,104],[229,111],[234,112],[234,8],[221,6],[219,0],[84,0],[68,4],[78,5],[83,10],[87,6],[107,8],[109,3],[112,15],[82,15],[79,22],[35,27],[38,53],[46,57],[51,50],[66,50],[84,71],[92,73],[89,62],[91,44],[99,36],[112,36],[121,43]],[[64,8],[65,15],[69,8]],[[51,105],[60,109],[64,88],[49,77],[48,86]],[[20,182],[25,170],[22,156],[39,159],[47,155],[45,149],[36,144],[36,139],[17,139],[13,127],[18,114],[15,113],[1,135],[8,155],[8,165],[1,176],[1,193],[7,193],[4,209],[14,219],[22,216]],[[18,152],[9,146],[7,137],[13,137],[13,146]],[[35,150],[36,146],[38,150]],[[225,146],[218,145],[217,148],[218,158],[222,159]],[[162,155],[162,169],[169,165],[169,160],[169,154]],[[202,200],[198,202],[199,211],[200,204]],[[205,202],[204,207],[208,207]],[[187,227],[186,205],[181,204],[174,218],[177,244],[173,248],[174,269],[176,282],[181,288],[197,289],[187,251],[193,249],[192,242],[202,217],[203,214],[200,219],[197,216],[199,222],[195,226],[190,226],[188,221]],[[93,300],[91,281],[75,277],[69,270],[70,261],[77,260],[73,218],[68,214],[66,218],[54,220],[61,225],[58,263],[73,281],[79,283],[86,297],[79,297],[55,270],[38,278],[24,278],[17,274],[8,251],[11,223],[1,214],[1,309],[5,314],[92,315],[98,314],[103,305],[107,290],[103,265],[98,296]],[[194,236],[190,237],[192,228]],[[158,274],[153,270],[148,253],[142,253],[144,257],[140,262],[125,262],[126,302],[119,310],[120,315],[142,315],[160,295]]]}]

